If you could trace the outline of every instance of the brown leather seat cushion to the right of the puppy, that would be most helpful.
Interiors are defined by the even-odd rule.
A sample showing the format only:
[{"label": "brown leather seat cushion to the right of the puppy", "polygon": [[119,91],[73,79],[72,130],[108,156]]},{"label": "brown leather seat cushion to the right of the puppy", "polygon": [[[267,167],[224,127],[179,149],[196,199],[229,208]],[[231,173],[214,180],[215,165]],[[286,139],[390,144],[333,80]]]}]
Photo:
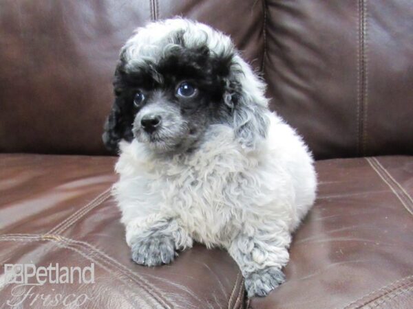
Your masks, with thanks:
[{"label": "brown leather seat cushion to the right of the puppy", "polygon": [[317,162],[286,282],[250,308],[413,308],[413,157]]}]

